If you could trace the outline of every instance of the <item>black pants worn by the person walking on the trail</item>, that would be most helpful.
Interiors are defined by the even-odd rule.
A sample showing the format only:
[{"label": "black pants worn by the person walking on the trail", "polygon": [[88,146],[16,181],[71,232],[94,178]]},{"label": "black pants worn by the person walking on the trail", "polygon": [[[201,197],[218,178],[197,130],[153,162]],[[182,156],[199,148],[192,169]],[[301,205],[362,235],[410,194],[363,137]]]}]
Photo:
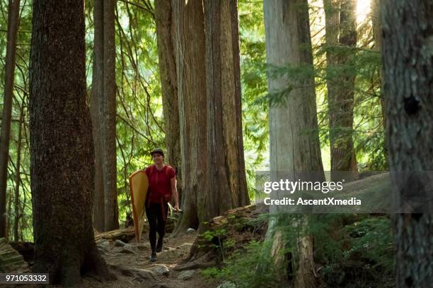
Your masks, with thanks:
[{"label": "black pants worn by the person walking on the trail", "polygon": [[[156,232],[158,232],[159,238],[158,241],[163,240],[164,234],[166,234],[166,220],[168,213],[168,204],[164,204],[164,213],[165,217],[163,217],[163,211],[161,209],[161,203],[150,203],[149,207],[147,207],[146,203],[146,215],[147,220],[149,221],[149,241],[151,244],[152,251],[156,250]],[[166,220],[164,220],[164,218]]]}]

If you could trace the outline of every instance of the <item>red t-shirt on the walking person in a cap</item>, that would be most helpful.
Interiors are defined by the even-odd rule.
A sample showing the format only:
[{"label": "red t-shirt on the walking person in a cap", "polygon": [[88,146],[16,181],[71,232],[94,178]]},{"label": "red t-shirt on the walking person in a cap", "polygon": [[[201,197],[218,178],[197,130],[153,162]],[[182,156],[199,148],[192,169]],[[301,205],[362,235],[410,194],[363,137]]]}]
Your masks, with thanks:
[{"label": "red t-shirt on the walking person in a cap", "polygon": [[175,177],[174,169],[166,165],[163,169],[158,170],[155,165],[151,165],[144,170],[144,173],[149,179],[147,202],[161,203],[164,195],[171,194],[171,179]]}]

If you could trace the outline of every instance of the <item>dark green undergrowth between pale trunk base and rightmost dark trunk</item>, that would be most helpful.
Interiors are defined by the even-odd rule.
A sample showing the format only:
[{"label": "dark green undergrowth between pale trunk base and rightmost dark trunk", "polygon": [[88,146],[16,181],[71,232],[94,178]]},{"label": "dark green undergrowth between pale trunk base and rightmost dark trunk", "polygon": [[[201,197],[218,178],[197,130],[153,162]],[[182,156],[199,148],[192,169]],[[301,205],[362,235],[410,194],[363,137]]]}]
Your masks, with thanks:
[{"label": "dark green undergrowth between pale trunk base and rightmost dark trunk", "polygon": [[395,268],[391,220],[386,216],[314,215],[308,224],[314,258],[324,279],[360,277],[382,280]]}]

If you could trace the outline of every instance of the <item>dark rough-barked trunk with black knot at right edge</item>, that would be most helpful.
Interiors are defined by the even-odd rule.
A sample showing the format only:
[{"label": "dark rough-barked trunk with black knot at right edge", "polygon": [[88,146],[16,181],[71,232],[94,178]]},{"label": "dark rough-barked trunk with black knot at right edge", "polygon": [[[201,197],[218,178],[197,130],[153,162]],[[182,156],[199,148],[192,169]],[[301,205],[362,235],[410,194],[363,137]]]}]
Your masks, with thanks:
[{"label": "dark rough-barked trunk with black knot at right edge", "polygon": [[[427,188],[431,180],[420,186],[417,174],[433,170],[432,7],[431,0],[381,4],[386,130],[392,197],[398,207],[414,193],[432,196]],[[424,211],[393,215],[397,287],[432,286],[431,200],[425,205]]]}]

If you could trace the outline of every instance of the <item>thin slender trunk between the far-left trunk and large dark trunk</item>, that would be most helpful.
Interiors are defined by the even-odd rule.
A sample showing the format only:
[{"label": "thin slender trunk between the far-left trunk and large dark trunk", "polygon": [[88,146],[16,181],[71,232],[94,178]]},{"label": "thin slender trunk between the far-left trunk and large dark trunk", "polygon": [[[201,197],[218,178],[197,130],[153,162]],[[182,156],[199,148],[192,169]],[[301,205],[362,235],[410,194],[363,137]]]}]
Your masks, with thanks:
[{"label": "thin slender trunk between the far-left trunk and large dark trunk", "polygon": [[22,211],[19,209],[20,204],[20,182],[21,182],[21,142],[23,139],[23,121],[24,121],[24,100],[21,103],[20,109],[20,122],[18,126],[18,148],[16,149],[16,179],[15,179],[15,197],[14,197],[14,207],[15,212],[14,222],[13,222],[13,240],[18,242],[18,223],[22,215]]}]

